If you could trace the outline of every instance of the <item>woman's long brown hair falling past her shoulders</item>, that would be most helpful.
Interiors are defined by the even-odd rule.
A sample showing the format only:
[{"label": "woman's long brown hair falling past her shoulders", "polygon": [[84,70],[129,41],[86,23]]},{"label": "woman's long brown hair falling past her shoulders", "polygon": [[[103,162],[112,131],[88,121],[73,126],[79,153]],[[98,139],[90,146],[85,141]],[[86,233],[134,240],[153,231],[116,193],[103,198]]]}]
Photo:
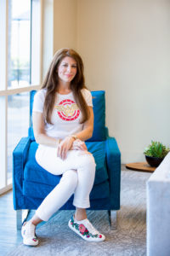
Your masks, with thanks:
[{"label": "woman's long brown hair falling past her shoulders", "polygon": [[83,75],[84,66],[82,63],[82,58],[80,55],[77,54],[77,52],[74,49],[59,49],[55,55],[53,60],[51,61],[51,64],[48,68],[48,73],[45,77],[45,79],[42,82],[41,89],[46,89],[46,96],[44,101],[44,107],[43,107],[43,113],[46,121],[49,124],[51,123],[51,115],[54,108],[54,99],[55,99],[55,93],[58,88],[59,84],[59,77],[58,77],[58,67],[60,62],[65,57],[71,57],[75,61],[77,61],[77,73],[74,79],[71,81],[71,91],[73,93],[73,96],[75,98],[75,101],[77,102],[78,108],[82,111],[82,120],[81,124],[84,123],[89,118],[89,111],[88,111],[88,105],[82,96],[82,89],[86,88],[85,86],[85,79]]}]

